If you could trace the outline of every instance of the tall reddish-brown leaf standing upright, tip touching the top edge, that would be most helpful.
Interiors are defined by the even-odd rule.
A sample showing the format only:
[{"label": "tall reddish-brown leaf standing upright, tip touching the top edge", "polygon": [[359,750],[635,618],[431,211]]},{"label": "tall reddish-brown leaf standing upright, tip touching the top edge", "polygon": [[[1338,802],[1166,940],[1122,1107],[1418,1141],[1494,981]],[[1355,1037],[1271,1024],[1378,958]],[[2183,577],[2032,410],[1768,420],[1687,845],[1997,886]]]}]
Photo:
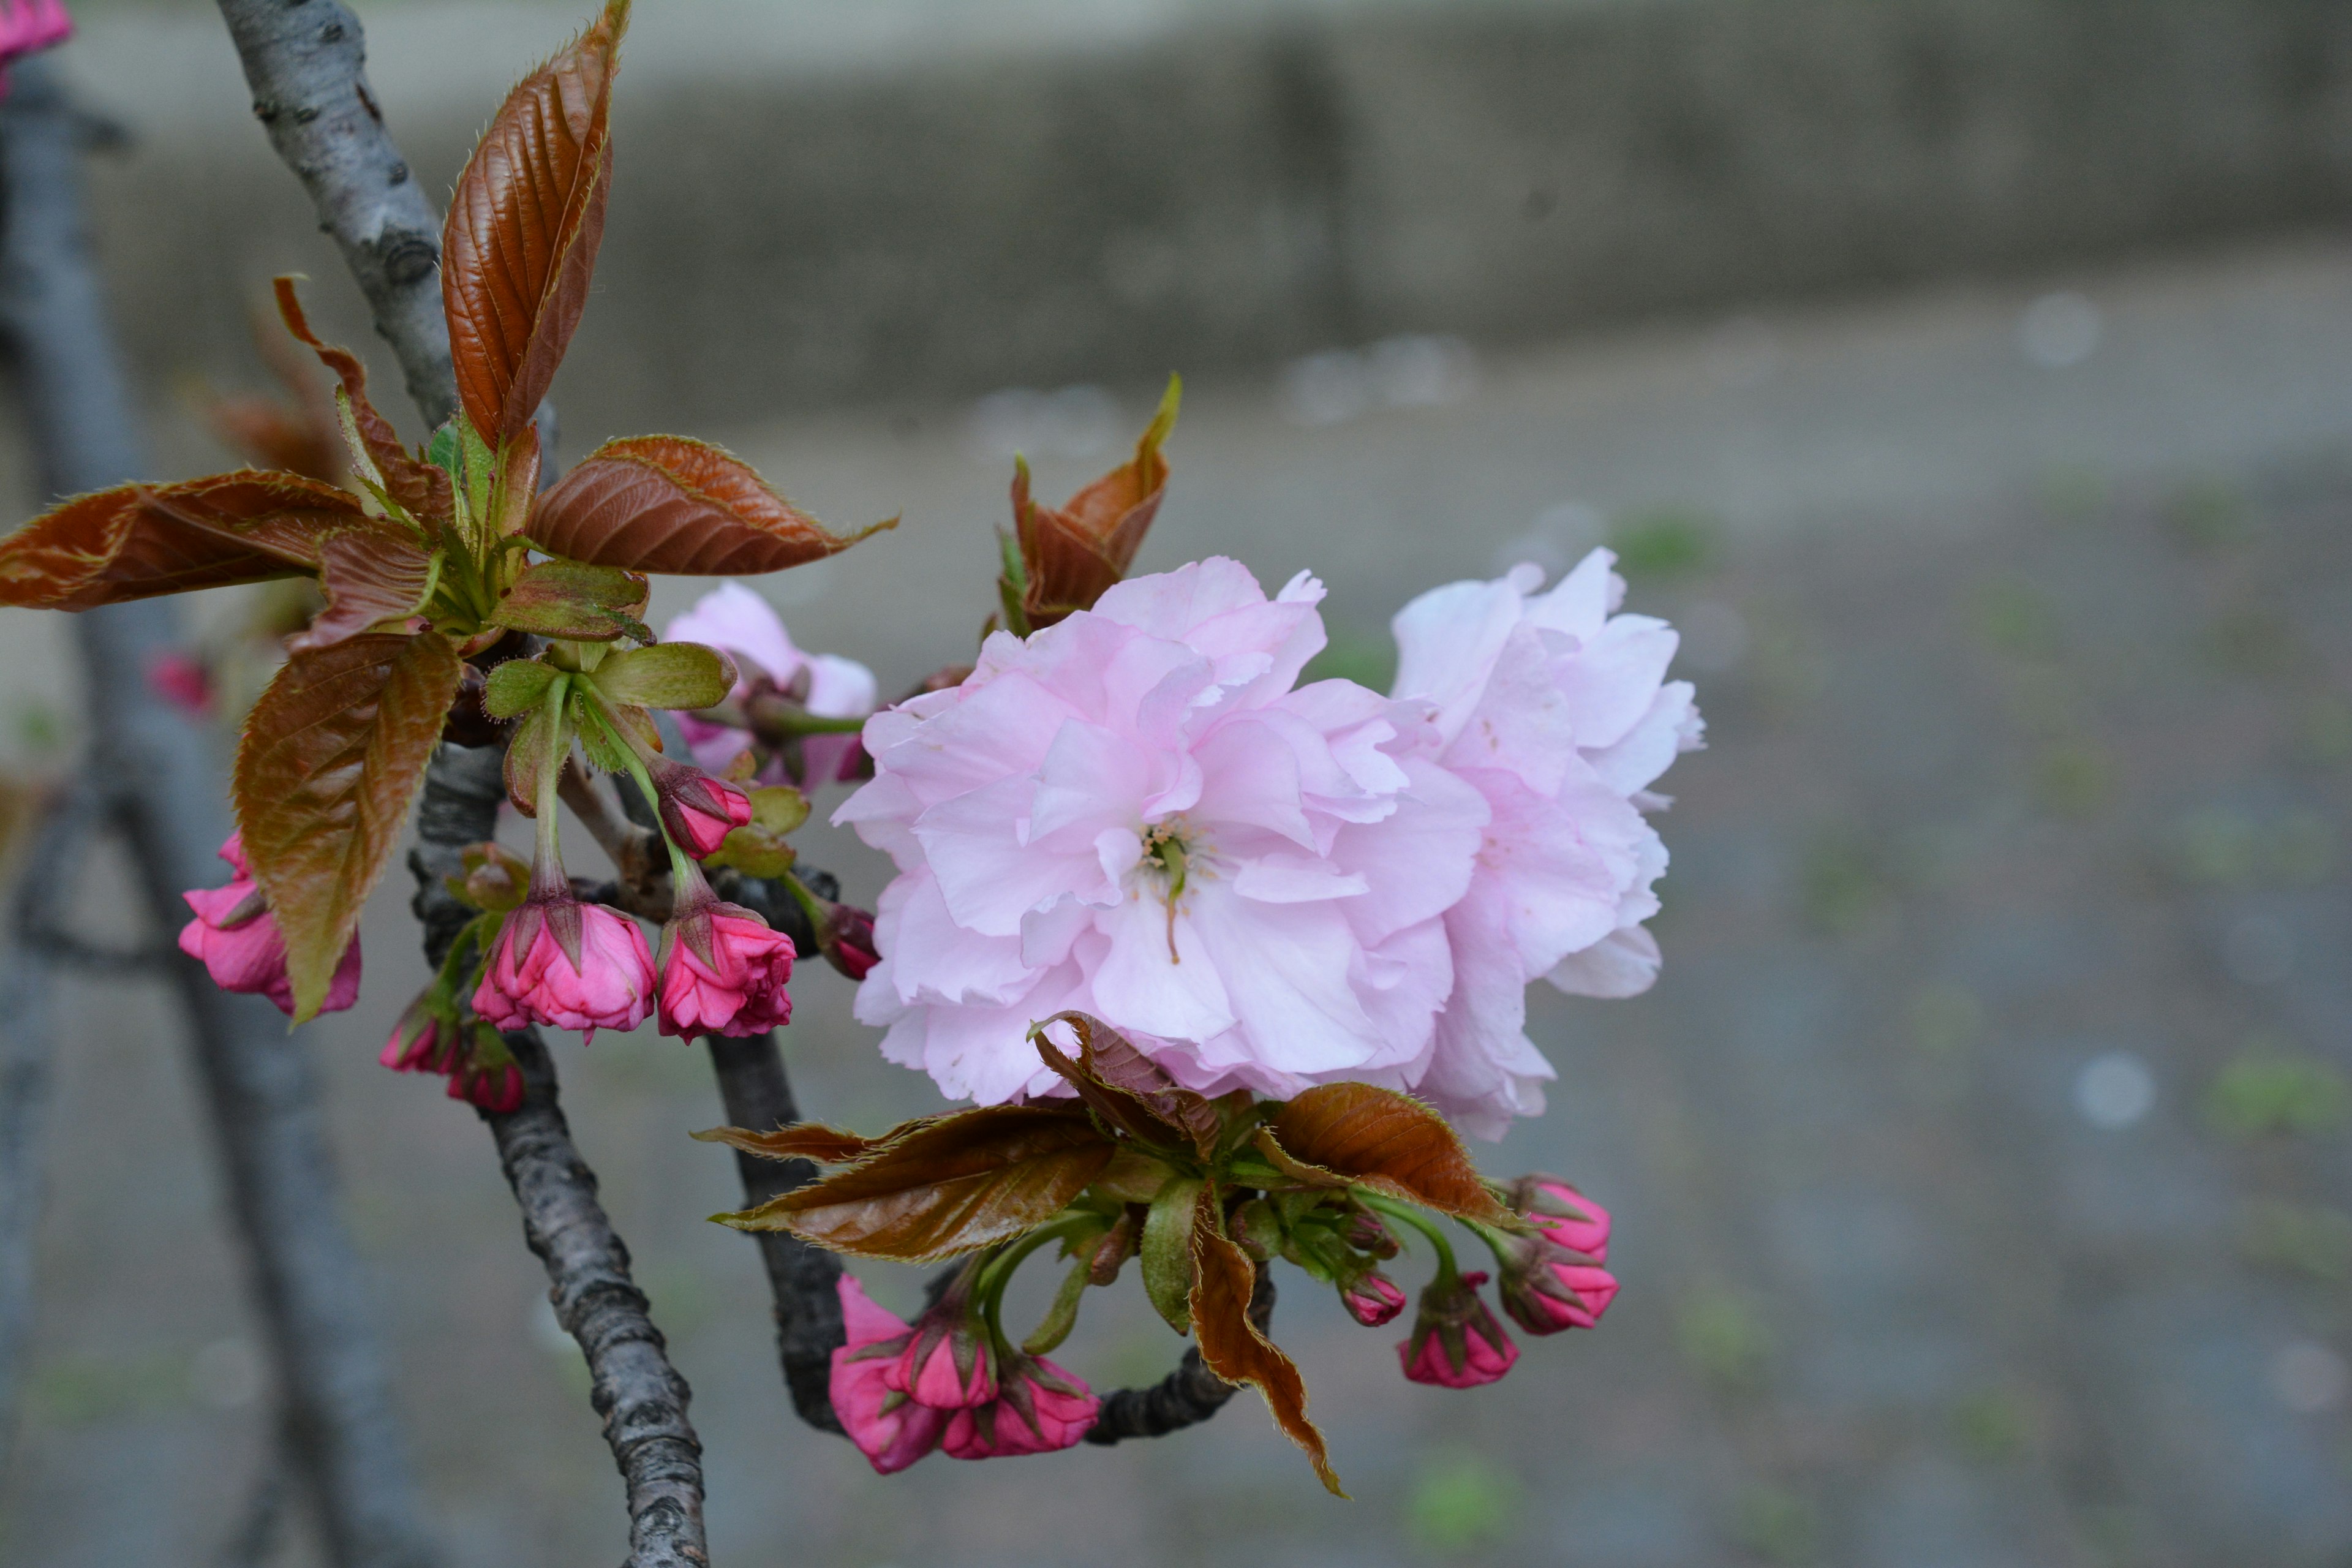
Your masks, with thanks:
[{"label": "tall reddish-brown leaf standing upright, tip touching the top edge", "polygon": [[588,306],[612,190],[612,75],[628,0],[522,78],[449,195],[442,308],[466,418],[503,447],[539,409]]}]

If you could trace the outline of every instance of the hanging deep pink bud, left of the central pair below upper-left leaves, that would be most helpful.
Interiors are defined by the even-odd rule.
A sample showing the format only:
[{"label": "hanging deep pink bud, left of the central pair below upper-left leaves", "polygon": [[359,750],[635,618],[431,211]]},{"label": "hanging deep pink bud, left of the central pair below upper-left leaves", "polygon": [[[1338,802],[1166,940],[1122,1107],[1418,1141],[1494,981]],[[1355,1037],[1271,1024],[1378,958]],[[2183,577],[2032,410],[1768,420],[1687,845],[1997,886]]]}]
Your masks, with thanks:
[{"label": "hanging deep pink bud, left of the central pair below upper-left leaves", "polygon": [[539,877],[499,926],[473,992],[473,1011],[496,1030],[546,1023],[588,1039],[635,1030],[652,1006],[654,957],[637,922]]}]

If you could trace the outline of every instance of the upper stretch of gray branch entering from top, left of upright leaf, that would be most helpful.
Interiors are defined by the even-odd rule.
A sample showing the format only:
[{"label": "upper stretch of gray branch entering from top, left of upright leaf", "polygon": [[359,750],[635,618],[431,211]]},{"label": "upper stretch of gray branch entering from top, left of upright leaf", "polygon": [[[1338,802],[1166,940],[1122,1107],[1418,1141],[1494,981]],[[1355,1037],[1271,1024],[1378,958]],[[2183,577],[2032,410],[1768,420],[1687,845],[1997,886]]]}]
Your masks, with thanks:
[{"label": "upper stretch of gray branch entering from top, left of upright leaf", "polygon": [[245,63],[254,118],[343,249],[426,425],[440,428],[456,414],[440,216],[383,129],[360,19],[336,0],[221,0],[221,19]]}]

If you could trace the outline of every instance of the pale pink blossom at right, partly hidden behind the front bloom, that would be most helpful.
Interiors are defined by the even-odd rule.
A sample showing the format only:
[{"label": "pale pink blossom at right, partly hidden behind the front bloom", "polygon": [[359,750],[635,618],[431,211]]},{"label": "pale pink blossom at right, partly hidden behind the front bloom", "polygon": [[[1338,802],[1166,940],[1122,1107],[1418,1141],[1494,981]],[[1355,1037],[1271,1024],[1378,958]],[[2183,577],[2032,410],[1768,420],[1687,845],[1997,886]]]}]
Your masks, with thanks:
[{"label": "pale pink blossom at right, partly hidden behind the front bloom", "polygon": [[1550,592],[1517,567],[1435,588],[1395,618],[1395,696],[1428,703],[1423,743],[1489,806],[1468,896],[1446,910],[1454,992],[1418,1091],[1501,1138],[1543,1110],[1550,1063],[1526,1039],[1526,983],[1632,997],[1658,973],[1642,922],[1665,844],[1649,785],[1700,743],[1672,628],[1613,614],[1625,581],[1595,550]]}]

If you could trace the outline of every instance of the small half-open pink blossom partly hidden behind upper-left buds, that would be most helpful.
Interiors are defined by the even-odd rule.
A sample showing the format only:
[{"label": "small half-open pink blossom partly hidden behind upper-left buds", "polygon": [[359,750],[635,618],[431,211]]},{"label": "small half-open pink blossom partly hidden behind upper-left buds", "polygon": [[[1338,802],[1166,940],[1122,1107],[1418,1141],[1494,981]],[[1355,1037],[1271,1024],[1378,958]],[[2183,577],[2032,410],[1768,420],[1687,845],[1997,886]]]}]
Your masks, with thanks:
[{"label": "small half-open pink blossom partly hidden behind upper-left buds", "polygon": [[[694,609],[663,628],[663,637],[724,649],[743,675],[734,691],[739,701],[771,686],[795,693],[821,719],[861,719],[875,710],[873,670],[854,658],[797,649],[769,602],[743,583],[729,581],[706,592],[694,602]],[[807,689],[802,689],[802,679],[807,679]],[[694,759],[713,773],[724,773],[727,764],[750,748],[748,731],[699,719],[691,712],[680,712],[677,726],[684,731]],[[802,736],[800,759],[797,778],[790,776],[783,757],[776,757],[760,771],[760,783],[821,785],[856,778],[863,752],[854,733]]]}]

